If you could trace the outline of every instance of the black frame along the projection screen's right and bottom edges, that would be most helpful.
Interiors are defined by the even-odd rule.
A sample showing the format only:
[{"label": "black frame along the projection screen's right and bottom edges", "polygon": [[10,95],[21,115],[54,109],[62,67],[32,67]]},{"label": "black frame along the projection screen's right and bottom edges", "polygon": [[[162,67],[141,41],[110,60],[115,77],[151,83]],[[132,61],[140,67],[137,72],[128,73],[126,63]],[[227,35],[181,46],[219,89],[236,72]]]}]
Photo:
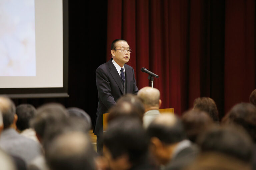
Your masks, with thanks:
[{"label": "black frame along the projection screen's right and bottom edges", "polygon": [[68,0],[62,0],[63,13],[63,87],[57,88],[0,88],[0,94],[10,98],[54,98],[68,95]]}]

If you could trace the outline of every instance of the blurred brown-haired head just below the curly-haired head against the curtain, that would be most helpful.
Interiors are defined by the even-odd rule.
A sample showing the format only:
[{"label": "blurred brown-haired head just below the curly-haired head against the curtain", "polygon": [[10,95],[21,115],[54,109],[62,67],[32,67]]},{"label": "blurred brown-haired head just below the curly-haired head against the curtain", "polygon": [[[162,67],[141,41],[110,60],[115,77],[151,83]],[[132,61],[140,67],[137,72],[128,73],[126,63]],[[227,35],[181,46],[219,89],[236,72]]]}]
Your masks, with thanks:
[{"label": "blurred brown-haired head just below the curly-haired head against the curtain", "polygon": [[213,120],[209,115],[200,110],[190,110],[182,115],[182,122],[187,134],[187,137],[195,142],[197,136],[205,129],[213,124]]}]

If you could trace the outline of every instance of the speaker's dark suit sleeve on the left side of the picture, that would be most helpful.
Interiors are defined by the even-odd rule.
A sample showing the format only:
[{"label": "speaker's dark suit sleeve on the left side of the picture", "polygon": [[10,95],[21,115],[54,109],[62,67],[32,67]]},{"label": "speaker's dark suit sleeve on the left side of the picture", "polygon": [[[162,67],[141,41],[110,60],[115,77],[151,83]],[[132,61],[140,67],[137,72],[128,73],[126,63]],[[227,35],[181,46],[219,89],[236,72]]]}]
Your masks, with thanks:
[{"label": "speaker's dark suit sleeve on the left side of the picture", "polygon": [[99,98],[106,108],[115,105],[116,102],[111,94],[111,86],[109,77],[102,68],[96,70],[96,85],[98,89]]}]

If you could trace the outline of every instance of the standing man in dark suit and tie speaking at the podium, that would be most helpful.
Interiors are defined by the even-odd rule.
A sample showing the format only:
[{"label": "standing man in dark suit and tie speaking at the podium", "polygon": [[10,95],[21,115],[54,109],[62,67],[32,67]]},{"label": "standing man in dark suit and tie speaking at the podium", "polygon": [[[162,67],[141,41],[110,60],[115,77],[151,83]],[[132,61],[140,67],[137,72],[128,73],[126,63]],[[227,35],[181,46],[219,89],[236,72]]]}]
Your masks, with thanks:
[{"label": "standing man in dark suit and tie speaking at the podium", "polygon": [[103,114],[107,113],[122,95],[138,92],[134,70],[125,64],[130,59],[130,53],[130,46],[125,40],[114,40],[111,44],[112,58],[96,70],[99,103],[93,132],[97,135],[98,152],[103,149]]}]

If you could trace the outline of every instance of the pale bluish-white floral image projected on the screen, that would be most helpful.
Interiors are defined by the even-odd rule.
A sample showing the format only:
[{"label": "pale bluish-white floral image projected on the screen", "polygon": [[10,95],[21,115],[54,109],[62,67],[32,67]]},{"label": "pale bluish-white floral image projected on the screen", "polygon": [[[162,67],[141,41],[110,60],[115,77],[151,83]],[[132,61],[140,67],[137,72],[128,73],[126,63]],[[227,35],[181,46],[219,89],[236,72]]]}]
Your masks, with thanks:
[{"label": "pale bluish-white floral image projected on the screen", "polygon": [[34,0],[0,0],[0,76],[36,76]]}]

